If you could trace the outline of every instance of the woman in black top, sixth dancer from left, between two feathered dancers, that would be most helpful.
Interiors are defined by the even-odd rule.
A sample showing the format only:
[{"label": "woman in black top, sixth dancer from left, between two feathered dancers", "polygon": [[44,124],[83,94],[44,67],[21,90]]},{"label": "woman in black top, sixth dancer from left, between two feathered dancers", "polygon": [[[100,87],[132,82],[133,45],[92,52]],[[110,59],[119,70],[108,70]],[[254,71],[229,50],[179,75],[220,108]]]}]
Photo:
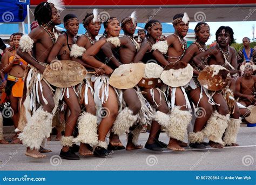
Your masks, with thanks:
[{"label": "woman in black top, sixth dancer from left, between two feathered dancers", "polygon": [[[152,19],[146,23],[145,30],[147,30],[147,35],[140,47],[140,50],[134,58],[134,63],[139,61],[146,64],[157,63],[156,59],[152,55],[152,45],[160,39],[162,34],[162,25],[158,20]],[[155,68],[152,66],[151,70],[156,72],[157,67]],[[167,113],[169,113],[169,107],[166,104],[164,93],[161,92],[159,88],[142,88],[142,91],[146,92],[146,99],[157,110],[151,124],[150,135],[149,139],[147,139],[145,148],[161,152],[163,151],[163,148],[167,147],[165,143],[159,141],[159,135],[161,132],[161,125],[167,125],[169,123],[169,115],[167,115]]]}]

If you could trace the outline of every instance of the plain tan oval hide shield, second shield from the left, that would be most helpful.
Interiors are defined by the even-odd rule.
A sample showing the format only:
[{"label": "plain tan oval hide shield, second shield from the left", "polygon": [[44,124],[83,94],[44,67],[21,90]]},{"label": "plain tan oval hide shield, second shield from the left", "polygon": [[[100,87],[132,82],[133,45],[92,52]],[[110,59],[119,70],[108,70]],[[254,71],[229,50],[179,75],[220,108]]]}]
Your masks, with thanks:
[{"label": "plain tan oval hide shield, second shield from the left", "polygon": [[111,74],[109,84],[113,87],[126,90],[135,87],[144,76],[145,64],[123,64]]}]

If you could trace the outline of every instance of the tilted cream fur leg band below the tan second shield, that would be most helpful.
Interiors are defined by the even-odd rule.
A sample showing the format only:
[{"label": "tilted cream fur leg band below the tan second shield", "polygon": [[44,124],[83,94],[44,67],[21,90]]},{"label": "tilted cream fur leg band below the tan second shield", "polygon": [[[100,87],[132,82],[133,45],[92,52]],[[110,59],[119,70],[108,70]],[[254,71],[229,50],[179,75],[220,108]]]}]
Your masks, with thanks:
[{"label": "tilted cream fur leg band below the tan second shield", "polygon": [[133,112],[125,107],[117,116],[116,121],[112,128],[112,132],[117,135],[121,135],[126,131],[129,131],[129,128],[134,124],[138,119],[138,115],[133,115]]}]

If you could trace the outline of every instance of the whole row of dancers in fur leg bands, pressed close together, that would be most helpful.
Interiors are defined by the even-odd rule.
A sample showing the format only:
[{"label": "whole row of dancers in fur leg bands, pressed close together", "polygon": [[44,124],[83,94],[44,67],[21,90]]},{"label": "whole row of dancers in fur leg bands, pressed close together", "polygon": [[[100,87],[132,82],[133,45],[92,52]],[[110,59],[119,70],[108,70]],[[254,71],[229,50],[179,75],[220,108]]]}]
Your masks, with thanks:
[{"label": "whole row of dancers in fur leg bands, pressed close together", "polygon": [[[239,109],[233,98],[237,57],[230,47],[234,34],[230,27],[221,26],[216,32],[217,45],[207,49],[210,27],[200,22],[194,29],[196,41],[187,48],[184,37],[190,20],[186,13],[179,13],[173,17],[173,35],[161,38],[162,25],[152,19],[146,23],[146,31],[139,32],[142,44],[138,44],[134,39],[137,20],[133,12],[121,22],[116,17],[105,20],[104,35],[96,40],[102,26],[97,10],[86,14],[83,19],[86,32],[77,37],[76,15],[64,17],[66,32],[60,34],[56,30],[55,26],[61,23],[62,8],[50,0],[37,5],[37,28],[29,35],[13,36],[14,51],[6,54],[3,64],[8,66],[4,73],[8,73],[6,87],[10,87],[10,91],[6,93],[14,110],[15,128],[26,146],[27,156],[42,158],[46,156],[44,152],[50,152],[43,147],[56,115],[65,122],[59,154],[63,159],[78,160],[76,152],[105,157],[112,150],[140,149],[143,146],[138,144],[138,137],[146,124],[150,124],[151,129],[145,148],[158,152],[164,148],[183,151],[193,107],[194,111],[198,107],[204,109],[205,115],[196,117],[193,132],[188,133],[190,147],[237,146],[240,110],[247,115],[250,111]],[[119,37],[121,29],[124,36]],[[43,73],[56,59],[75,61],[94,73],[87,74],[76,86],[55,87]],[[122,71],[123,67],[132,73],[139,70],[142,63],[143,80],[150,79],[151,83],[140,85],[140,81],[132,86],[129,83],[134,83],[133,76],[127,83],[110,83],[115,70]],[[138,67],[127,70],[127,64]],[[199,83],[197,77],[208,65],[223,66],[231,74],[230,83],[223,90],[209,91]],[[188,83],[183,84],[187,80]],[[102,116],[102,111],[107,111],[107,116]],[[76,126],[78,134],[74,133]],[[159,141],[162,130],[170,138],[168,144]],[[106,142],[108,133],[109,143]],[[126,147],[119,140],[125,133]],[[206,138],[210,140],[208,143],[204,142]]]}]

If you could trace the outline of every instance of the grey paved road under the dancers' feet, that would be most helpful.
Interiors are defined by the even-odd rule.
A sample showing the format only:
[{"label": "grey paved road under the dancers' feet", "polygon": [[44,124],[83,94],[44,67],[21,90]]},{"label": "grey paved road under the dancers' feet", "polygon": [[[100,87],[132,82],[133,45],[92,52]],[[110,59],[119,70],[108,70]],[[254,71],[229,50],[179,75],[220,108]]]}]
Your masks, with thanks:
[{"label": "grey paved road under the dancers' feet", "polygon": [[[140,134],[139,143],[144,145],[148,136],[149,133]],[[126,143],[125,135],[121,139]],[[169,141],[165,133],[161,133],[160,140]],[[242,125],[238,143],[239,147],[187,148],[185,152],[119,150],[107,158],[90,156],[78,161],[58,158],[59,141],[48,142],[47,148],[53,152],[41,160],[25,156],[22,145],[0,145],[0,170],[256,170],[256,127]]]}]

